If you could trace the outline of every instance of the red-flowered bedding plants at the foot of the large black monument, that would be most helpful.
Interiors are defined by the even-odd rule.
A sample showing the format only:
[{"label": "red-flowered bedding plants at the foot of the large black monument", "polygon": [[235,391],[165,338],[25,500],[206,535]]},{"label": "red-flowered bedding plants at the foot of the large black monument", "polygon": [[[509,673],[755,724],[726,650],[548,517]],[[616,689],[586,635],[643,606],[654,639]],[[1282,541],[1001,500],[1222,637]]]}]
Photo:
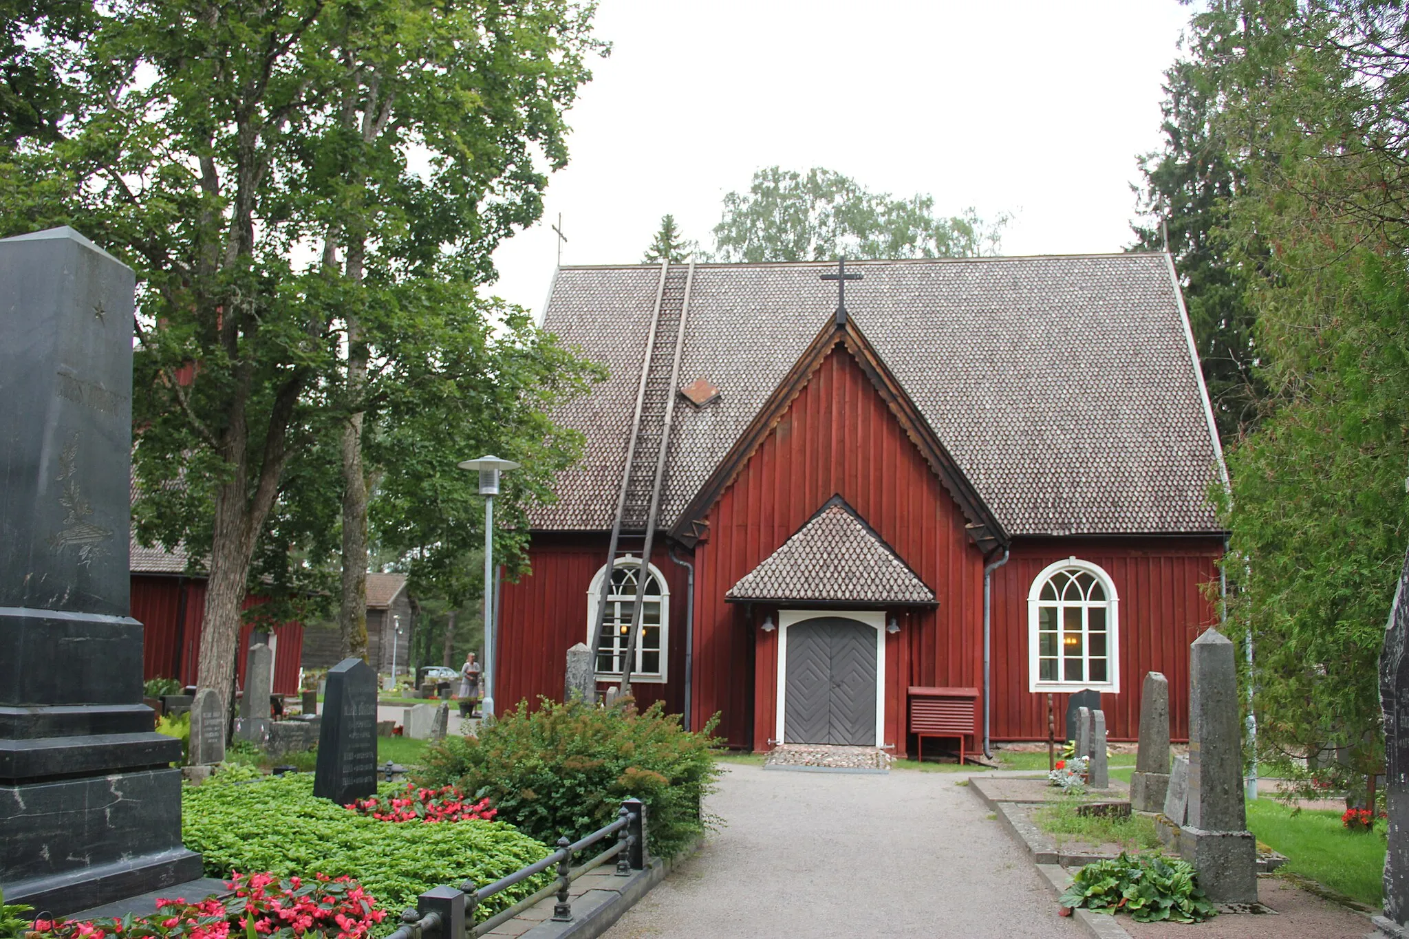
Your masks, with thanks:
[{"label": "red-flowered bedding plants at the foot of the large black monument", "polygon": [[30,939],[227,939],[237,936],[337,936],[364,939],[386,911],[349,877],[234,874],[230,900],[156,901],[156,912],[123,919],[37,919]]}]

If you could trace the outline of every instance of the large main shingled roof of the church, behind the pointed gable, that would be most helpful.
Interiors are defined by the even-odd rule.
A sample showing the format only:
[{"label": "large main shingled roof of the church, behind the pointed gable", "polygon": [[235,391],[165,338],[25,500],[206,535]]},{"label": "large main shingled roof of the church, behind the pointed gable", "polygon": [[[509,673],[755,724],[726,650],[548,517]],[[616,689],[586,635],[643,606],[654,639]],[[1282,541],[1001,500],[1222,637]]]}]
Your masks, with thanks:
[{"label": "large main shingled roof of the church, behind the pointed gable", "polygon": [[[847,308],[1009,535],[1212,534],[1222,452],[1162,253],[854,262]],[[830,263],[696,265],[659,527],[675,525],[836,308]],[[612,377],[535,529],[607,529],[658,266],[564,267],[544,327]]]}]

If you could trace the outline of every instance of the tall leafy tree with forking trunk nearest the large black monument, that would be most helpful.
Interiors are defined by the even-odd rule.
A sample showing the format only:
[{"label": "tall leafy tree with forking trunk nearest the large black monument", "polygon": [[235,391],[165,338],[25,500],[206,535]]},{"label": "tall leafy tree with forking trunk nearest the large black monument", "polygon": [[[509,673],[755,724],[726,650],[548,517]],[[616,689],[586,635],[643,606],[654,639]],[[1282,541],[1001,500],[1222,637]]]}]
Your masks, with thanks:
[{"label": "tall leafy tree with forking trunk nearest the large black monument", "polygon": [[4,152],[0,227],[70,222],[138,272],[137,521],[209,557],[200,684],[231,690],[285,472],[355,425],[364,363],[393,353],[376,329],[424,283],[488,279],[538,217],[592,13],[124,0],[27,46],[61,63],[65,113]]}]

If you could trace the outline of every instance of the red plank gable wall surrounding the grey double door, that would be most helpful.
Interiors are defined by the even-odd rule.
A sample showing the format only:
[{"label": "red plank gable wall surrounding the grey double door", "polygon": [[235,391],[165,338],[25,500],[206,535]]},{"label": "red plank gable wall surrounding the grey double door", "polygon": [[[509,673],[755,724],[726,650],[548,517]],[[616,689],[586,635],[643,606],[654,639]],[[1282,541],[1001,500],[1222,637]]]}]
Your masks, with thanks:
[{"label": "red plank gable wall surrounding the grey double door", "polygon": [[[764,611],[745,612],[726,603],[724,593],[836,494],[938,600],[936,610],[898,611],[900,632],[886,638],[885,743],[898,753],[907,749],[910,684],[981,683],[982,555],[871,379],[838,348],[714,504],[709,541],[696,548],[695,712],[720,711],[719,733],[730,746],[769,749],[778,641],[754,622]],[[757,663],[750,662],[754,655]]]}]

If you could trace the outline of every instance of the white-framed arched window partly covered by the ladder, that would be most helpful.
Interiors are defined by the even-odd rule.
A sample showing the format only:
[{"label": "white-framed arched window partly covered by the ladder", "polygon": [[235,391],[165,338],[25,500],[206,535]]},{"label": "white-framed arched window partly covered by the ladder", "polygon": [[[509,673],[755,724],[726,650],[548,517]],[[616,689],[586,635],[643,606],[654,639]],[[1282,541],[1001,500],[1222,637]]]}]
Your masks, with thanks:
[{"label": "white-framed arched window partly covered by the ladder", "polygon": [[[597,603],[602,600],[602,577],[606,566],[597,570],[588,588],[588,642],[592,641],[592,626],[597,619]],[[612,680],[621,674],[621,659],[626,656],[627,634],[631,631],[631,611],[635,605],[635,579],[641,570],[640,557],[621,557],[612,567],[612,587],[607,591],[607,615],[602,619],[602,636],[597,641],[597,677]],[[631,669],[633,681],[665,681],[666,650],[669,649],[671,588],[655,565],[645,567],[645,597],[641,604],[641,634],[635,641],[635,664]]]}]

